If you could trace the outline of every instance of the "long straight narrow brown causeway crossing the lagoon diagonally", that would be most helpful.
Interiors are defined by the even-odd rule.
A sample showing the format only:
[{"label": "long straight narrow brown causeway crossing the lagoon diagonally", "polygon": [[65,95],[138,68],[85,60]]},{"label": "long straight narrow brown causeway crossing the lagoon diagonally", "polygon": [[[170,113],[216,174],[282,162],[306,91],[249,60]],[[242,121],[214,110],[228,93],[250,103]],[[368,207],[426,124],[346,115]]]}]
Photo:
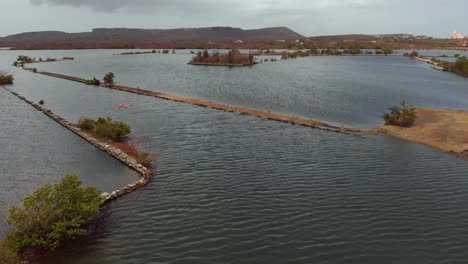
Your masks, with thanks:
[{"label": "long straight narrow brown causeway crossing the lagoon diagonally", "polygon": [[[25,70],[30,70],[30,69],[25,68]],[[61,78],[65,80],[80,82],[80,83],[86,82],[85,79],[63,75],[63,74],[57,74],[57,73],[51,73],[51,72],[45,72],[45,71],[37,71],[37,73],[55,77],[55,78]],[[122,85],[114,85],[112,87],[101,85],[101,87],[106,87],[109,89],[115,89],[115,90],[120,90],[124,92],[135,93],[135,94],[140,94],[140,95],[145,95],[145,96],[156,97],[159,99],[170,100],[174,102],[182,102],[182,103],[187,103],[187,104],[192,104],[192,105],[197,105],[197,106],[202,106],[202,107],[209,107],[209,108],[222,110],[222,111],[236,112],[236,113],[240,113],[243,115],[250,115],[250,116],[255,116],[255,117],[259,117],[263,119],[269,119],[269,120],[274,120],[274,121],[279,121],[279,122],[284,122],[284,123],[290,123],[290,124],[296,124],[296,125],[312,127],[312,128],[317,128],[317,129],[329,130],[329,131],[333,131],[337,133],[339,132],[374,133],[373,130],[338,127],[338,126],[327,124],[319,120],[306,119],[306,118],[300,118],[300,117],[295,117],[295,116],[272,113],[269,111],[214,103],[211,101],[199,100],[199,99],[188,98],[188,97],[183,97],[183,96],[178,96],[178,95],[165,94],[165,93],[155,92],[155,91],[141,89],[141,88],[122,86]]]}]

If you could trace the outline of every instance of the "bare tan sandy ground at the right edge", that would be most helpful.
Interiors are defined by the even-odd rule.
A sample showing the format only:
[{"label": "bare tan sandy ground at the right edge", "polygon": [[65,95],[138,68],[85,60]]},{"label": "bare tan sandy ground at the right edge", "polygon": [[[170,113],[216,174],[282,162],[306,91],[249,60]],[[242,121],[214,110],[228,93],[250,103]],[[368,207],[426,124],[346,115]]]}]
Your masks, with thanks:
[{"label": "bare tan sandy ground at the right edge", "polygon": [[468,158],[468,111],[418,108],[417,113],[412,127],[381,125],[377,131]]}]

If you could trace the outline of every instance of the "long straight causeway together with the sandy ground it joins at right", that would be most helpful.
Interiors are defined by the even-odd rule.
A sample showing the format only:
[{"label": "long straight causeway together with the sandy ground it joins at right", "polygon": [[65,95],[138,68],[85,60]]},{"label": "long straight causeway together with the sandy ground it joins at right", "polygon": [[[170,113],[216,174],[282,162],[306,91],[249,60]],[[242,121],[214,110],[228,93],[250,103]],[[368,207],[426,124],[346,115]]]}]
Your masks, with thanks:
[{"label": "long straight causeway together with the sandy ground it joins at right", "polygon": [[[24,68],[25,70],[32,71],[31,69]],[[51,72],[43,72],[37,71],[38,74],[43,74],[50,77],[66,79],[70,81],[84,83],[85,80],[68,76],[62,75],[57,73]],[[418,119],[414,126],[405,128],[405,127],[397,127],[397,126],[389,126],[389,125],[380,125],[374,129],[360,129],[360,128],[345,128],[345,127],[338,127],[327,124],[320,120],[313,120],[313,119],[305,119],[295,116],[283,115],[278,113],[272,113],[269,111],[263,110],[256,110],[244,107],[237,107],[231,106],[226,104],[215,103],[211,101],[204,101],[194,98],[188,98],[183,96],[177,95],[170,95],[160,92],[155,92],[151,90],[145,90],[141,88],[134,88],[129,86],[121,86],[121,85],[114,85],[113,87],[106,87],[104,85],[100,85],[101,87],[108,88],[108,89],[115,89],[129,93],[135,93],[139,95],[151,96],[159,99],[170,100],[174,102],[182,102],[187,104],[192,104],[201,107],[208,107],[216,110],[227,111],[227,112],[236,112],[242,115],[250,115],[262,119],[267,120],[274,120],[283,123],[290,123],[305,127],[311,127],[315,129],[322,129],[326,131],[336,132],[336,133],[363,133],[363,134],[383,134],[392,137],[396,137],[402,140],[408,140],[411,142],[417,142],[420,144],[424,144],[436,149],[439,149],[443,152],[454,154],[457,157],[462,157],[468,159],[468,111],[466,110],[448,110],[448,109],[429,109],[429,108],[416,108],[418,112]],[[428,125],[428,120],[434,120],[435,117],[443,115],[443,117],[439,117],[438,120],[441,122],[432,123],[432,133],[428,134],[425,133],[425,128]],[[453,122],[453,118],[458,117],[457,122],[451,123],[447,120],[451,120]],[[465,121],[466,120],[466,121]],[[447,130],[447,127],[450,127],[451,130]],[[465,128],[465,130],[463,130]],[[441,132],[442,131],[442,132]],[[460,132],[461,131],[461,132]],[[444,138],[440,137],[440,134],[444,134],[445,132],[446,137],[452,136],[457,140],[447,144]],[[464,138],[460,138],[457,136],[458,134],[465,134],[467,135],[466,140]],[[465,144],[466,146],[463,148],[457,148],[456,146],[461,146],[461,144]]]}]

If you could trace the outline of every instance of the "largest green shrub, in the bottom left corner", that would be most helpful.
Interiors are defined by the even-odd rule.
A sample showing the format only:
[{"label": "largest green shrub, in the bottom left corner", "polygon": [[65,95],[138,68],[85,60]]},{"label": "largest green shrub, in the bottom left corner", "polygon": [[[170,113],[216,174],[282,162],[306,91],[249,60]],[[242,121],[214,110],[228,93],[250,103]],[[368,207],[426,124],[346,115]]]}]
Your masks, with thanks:
[{"label": "largest green shrub, in the bottom left corner", "polygon": [[10,208],[13,229],[5,238],[6,247],[15,253],[27,248],[54,251],[62,242],[85,235],[89,219],[99,213],[104,200],[96,188],[81,185],[78,176],[68,175],[26,197],[22,208]]}]

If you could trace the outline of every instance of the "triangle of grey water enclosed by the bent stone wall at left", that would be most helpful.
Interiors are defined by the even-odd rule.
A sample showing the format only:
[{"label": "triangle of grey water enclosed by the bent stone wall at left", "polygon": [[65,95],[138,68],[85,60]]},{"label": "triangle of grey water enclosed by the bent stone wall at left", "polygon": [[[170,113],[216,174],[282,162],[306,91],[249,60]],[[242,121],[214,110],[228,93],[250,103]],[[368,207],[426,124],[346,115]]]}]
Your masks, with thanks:
[{"label": "triangle of grey water enclosed by the bent stone wall at left", "polygon": [[77,174],[85,185],[113,191],[138,179],[123,164],[0,88],[0,237],[8,208],[45,184]]}]

